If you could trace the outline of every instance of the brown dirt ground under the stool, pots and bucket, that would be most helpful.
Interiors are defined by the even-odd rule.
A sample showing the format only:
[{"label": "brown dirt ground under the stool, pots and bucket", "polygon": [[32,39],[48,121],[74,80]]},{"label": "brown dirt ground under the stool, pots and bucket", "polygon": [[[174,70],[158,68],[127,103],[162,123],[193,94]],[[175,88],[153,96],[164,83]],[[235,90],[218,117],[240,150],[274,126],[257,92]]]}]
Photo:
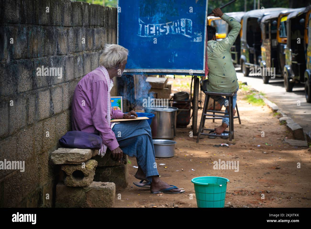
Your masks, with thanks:
[{"label": "brown dirt ground under the stool, pots and bucket", "polygon": [[[183,85],[189,84],[190,79],[169,79],[175,90],[172,93],[187,90]],[[234,120],[235,145],[217,148],[214,145],[227,140],[219,137],[209,139],[207,136],[197,144],[196,136],[189,137],[191,121],[187,128],[177,128],[174,157],[156,159],[160,178],[168,184],[184,188],[184,193],[151,194],[149,189],[136,187],[133,182],[137,179],[133,175],[137,169],[132,166],[137,166],[137,163],[135,158],[129,157],[129,185],[119,192],[120,200],[116,193],[115,207],[196,208],[191,179],[199,176],[228,178],[230,182],[227,184],[225,203],[230,202],[233,207],[310,207],[311,151],[285,143],[283,140],[288,135],[286,126],[280,125],[267,106],[254,106],[244,100],[245,93],[241,90],[238,92],[237,104],[242,124]],[[199,110],[198,120],[201,114],[202,110]],[[206,121],[205,127],[213,128],[220,124],[221,120],[215,123]],[[219,159],[239,161],[239,171],[213,169],[213,161]],[[297,168],[298,162],[301,168]],[[159,165],[161,163],[165,165]]]}]

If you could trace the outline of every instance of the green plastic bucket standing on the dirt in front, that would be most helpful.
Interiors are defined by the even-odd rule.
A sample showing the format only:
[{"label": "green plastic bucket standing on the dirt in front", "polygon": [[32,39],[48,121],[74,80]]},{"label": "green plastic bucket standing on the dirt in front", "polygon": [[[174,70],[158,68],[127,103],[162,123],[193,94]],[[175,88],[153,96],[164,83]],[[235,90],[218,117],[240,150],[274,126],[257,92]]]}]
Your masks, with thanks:
[{"label": "green plastic bucket standing on the dirt in front", "polygon": [[224,177],[195,177],[191,180],[194,184],[198,208],[223,208],[227,182]]}]

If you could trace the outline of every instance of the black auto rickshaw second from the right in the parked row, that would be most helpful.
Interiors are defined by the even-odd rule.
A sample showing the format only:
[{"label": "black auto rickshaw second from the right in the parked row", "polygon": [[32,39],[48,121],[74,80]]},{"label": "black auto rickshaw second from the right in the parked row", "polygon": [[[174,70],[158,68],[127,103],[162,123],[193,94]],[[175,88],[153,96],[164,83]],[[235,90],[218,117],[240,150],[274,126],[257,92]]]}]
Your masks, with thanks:
[{"label": "black auto rickshaw second from the right in the parked row", "polygon": [[[291,92],[295,83],[304,83],[306,99],[310,101],[310,70],[307,69],[307,25],[311,7],[296,9],[287,16],[287,41],[285,46],[284,87]],[[308,28],[309,29],[309,28]]]}]

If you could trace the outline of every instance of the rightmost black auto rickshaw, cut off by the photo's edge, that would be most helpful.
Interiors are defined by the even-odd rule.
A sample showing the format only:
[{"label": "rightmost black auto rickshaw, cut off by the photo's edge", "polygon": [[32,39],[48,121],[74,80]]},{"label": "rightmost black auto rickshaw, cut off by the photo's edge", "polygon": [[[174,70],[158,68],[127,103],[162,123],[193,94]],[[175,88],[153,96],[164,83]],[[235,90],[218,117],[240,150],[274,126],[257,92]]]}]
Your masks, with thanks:
[{"label": "rightmost black auto rickshaw, cut off by the photo's edge", "polygon": [[[306,18],[308,15],[306,15]],[[306,20],[306,28],[307,31],[305,32],[305,43],[307,46],[307,66],[306,70],[304,71],[304,91],[307,103],[311,103],[311,13],[309,11],[308,20]]]}]

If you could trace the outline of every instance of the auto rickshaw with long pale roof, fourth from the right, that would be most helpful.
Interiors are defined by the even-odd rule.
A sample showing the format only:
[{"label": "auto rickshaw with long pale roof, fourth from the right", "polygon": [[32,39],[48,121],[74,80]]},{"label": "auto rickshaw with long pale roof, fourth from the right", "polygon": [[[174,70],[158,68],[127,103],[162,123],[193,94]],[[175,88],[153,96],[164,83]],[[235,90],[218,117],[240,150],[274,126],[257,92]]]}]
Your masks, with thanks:
[{"label": "auto rickshaw with long pale roof, fourth from the right", "polygon": [[269,14],[270,12],[281,12],[282,10],[286,10],[286,8],[266,8],[245,12],[240,32],[240,64],[244,76],[248,76],[250,67],[260,66],[262,44],[260,21],[262,17]]}]

